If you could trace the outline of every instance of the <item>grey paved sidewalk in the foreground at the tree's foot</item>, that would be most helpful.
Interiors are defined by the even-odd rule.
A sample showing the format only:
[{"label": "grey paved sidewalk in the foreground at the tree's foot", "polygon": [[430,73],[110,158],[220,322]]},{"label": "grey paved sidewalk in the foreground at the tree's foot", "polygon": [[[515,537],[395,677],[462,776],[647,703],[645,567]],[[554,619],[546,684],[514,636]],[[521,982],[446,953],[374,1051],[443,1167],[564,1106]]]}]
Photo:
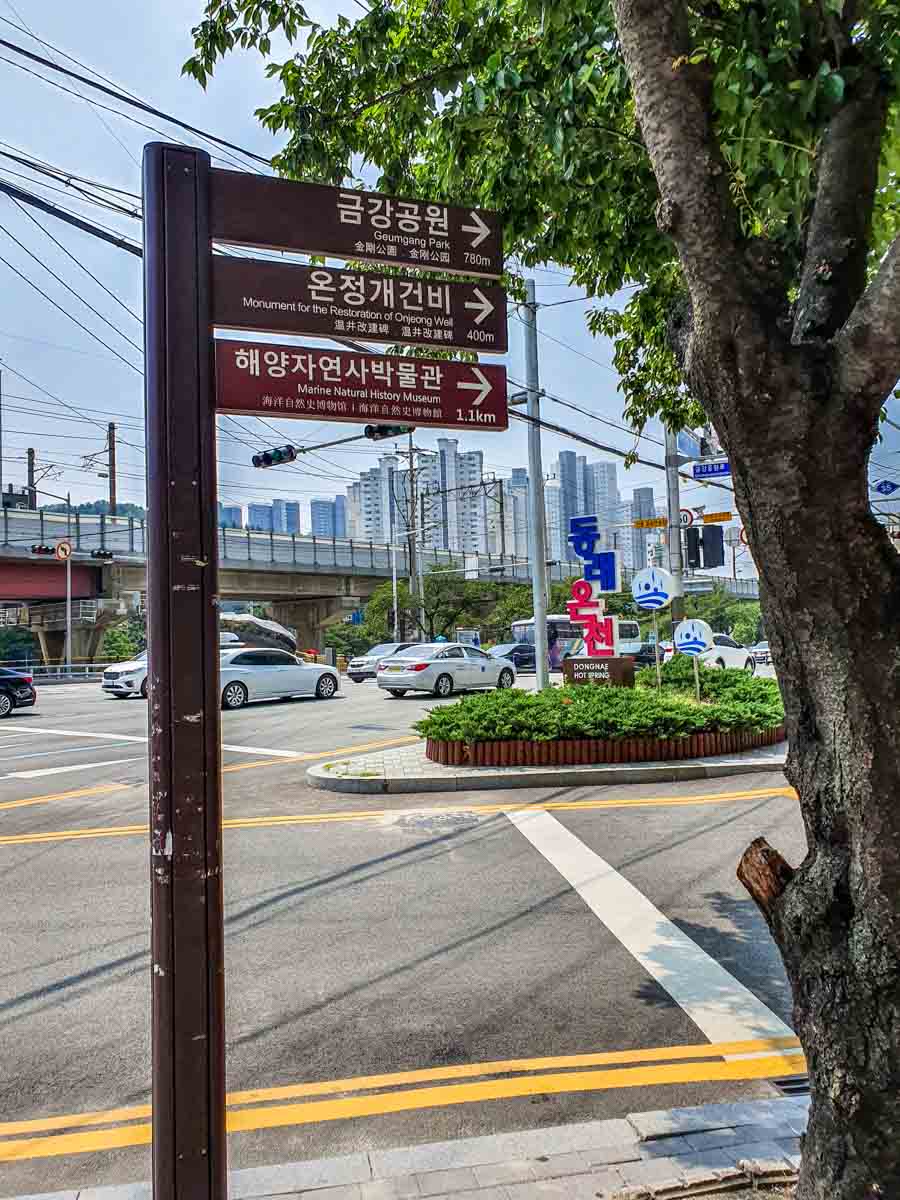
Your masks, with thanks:
[{"label": "grey paved sidewalk in the foreground at the tree's foot", "polygon": [[[676,1200],[792,1181],[809,1098],[706,1104],[233,1171],[230,1200]],[[151,1200],[149,1183],[19,1200]]]}]

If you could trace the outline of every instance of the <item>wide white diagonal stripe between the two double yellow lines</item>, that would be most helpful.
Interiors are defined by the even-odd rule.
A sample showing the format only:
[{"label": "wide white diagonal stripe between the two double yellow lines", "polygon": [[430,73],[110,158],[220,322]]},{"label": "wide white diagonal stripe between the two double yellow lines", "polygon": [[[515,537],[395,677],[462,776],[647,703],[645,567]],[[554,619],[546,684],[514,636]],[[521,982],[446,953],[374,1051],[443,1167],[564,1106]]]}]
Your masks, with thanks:
[{"label": "wide white diagonal stripe between the two double yellow lines", "polygon": [[550,812],[506,817],[710,1042],[793,1037],[770,1008]]}]

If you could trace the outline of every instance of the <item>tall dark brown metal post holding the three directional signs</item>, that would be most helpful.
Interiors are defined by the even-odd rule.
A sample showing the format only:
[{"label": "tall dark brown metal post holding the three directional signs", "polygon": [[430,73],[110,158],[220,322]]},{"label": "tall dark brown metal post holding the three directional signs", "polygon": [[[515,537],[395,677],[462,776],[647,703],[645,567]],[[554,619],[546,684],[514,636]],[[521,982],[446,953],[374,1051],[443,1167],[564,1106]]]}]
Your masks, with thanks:
[{"label": "tall dark brown metal post holding the three directional signs", "polygon": [[144,150],[155,1200],[224,1200],[209,155]]}]

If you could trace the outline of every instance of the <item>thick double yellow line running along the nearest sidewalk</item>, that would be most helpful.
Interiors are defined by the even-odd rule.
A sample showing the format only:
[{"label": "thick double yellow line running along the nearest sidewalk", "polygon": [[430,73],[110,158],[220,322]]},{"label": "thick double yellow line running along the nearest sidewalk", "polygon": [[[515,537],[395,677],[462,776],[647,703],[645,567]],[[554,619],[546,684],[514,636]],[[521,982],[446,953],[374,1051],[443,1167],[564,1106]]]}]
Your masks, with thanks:
[{"label": "thick double yellow line running along the nearest sidewalk", "polygon": [[[304,1104],[275,1104],[268,1106],[232,1109],[228,1112],[229,1133],[251,1129],[274,1129],[282,1126],[312,1124],[319,1121],[340,1121],[386,1112],[403,1112],[415,1109],[442,1108],[452,1104],[472,1104],[484,1100],[510,1099],[538,1093],[564,1093],[608,1091],[617,1087],[647,1087],[666,1084],[712,1082],[721,1080],[769,1079],[776,1075],[802,1074],[805,1058],[802,1052],[788,1052],[787,1046],[796,1039],[782,1038],[761,1042],[736,1042],[722,1045],[674,1046],[670,1050],[624,1050],[601,1055],[572,1055],[563,1058],[522,1058],[498,1063],[470,1063],[457,1067],[434,1068],[424,1072],[401,1072],[394,1075],[364,1075],[356,1079],[334,1080],[323,1084],[302,1084],[296,1087],[265,1088],[234,1092],[229,1104],[259,1104],[272,1098],[289,1096],[317,1096],[323,1093],[361,1091],[422,1080],[458,1079],[466,1074],[485,1075],[491,1072],[546,1070],[547,1067],[608,1064],[620,1062],[647,1062],[665,1056],[686,1060],[709,1060],[718,1054],[752,1052],[752,1049],[776,1049],[785,1052],[764,1058],[743,1058],[730,1062],[664,1062],[654,1066],[625,1067],[605,1070],[568,1070],[550,1074],[520,1075],[518,1078],[481,1079],[474,1082],[450,1084],[440,1087],[413,1087],[372,1096],[342,1096],[338,1099],[308,1100]],[[752,1049],[751,1049],[752,1048]],[[137,1120],[149,1116],[146,1105],[133,1109],[110,1109],[107,1112],[83,1114],[77,1117],[49,1117],[43,1121],[13,1122],[0,1126],[0,1134],[25,1133],[58,1128],[78,1128],[88,1123]],[[62,1124],[65,1122],[65,1126]],[[150,1124],[131,1124],[114,1129],[96,1129],[84,1133],[64,1133],[46,1138],[22,1138],[0,1141],[0,1162],[26,1158],[50,1158],[60,1154],[90,1153],[115,1150],[124,1146],[142,1146],[150,1141]]]}]

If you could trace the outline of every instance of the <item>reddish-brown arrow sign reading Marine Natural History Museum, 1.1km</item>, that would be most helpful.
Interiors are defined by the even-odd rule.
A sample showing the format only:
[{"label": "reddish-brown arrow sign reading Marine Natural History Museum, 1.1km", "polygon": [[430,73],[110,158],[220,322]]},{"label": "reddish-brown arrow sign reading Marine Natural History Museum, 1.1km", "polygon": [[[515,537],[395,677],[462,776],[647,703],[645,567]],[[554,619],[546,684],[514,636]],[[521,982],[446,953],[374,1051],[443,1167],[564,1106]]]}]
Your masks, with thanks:
[{"label": "reddish-brown arrow sign reading Marine Natural History Museum, 1.1km", "polygon": [[509,426],[505,367],[226,338],[216,340],[216,408],[473,432]]}]

